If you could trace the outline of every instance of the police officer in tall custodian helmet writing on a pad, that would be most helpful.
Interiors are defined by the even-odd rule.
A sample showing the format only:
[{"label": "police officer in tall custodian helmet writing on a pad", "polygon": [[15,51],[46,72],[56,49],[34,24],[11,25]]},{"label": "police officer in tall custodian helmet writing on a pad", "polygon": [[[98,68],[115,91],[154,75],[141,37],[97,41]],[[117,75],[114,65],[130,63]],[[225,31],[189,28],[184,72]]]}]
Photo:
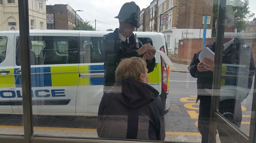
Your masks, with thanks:
[{"label": "police officer in tall custodian helmet writing on a pad", "polygon": [[104,92],[115,83],[115,70],[121,59],[140,56],[147,63],[148,73],[155,68],[155,47],[150,43],[142,45],[133,34],[140,26],[140,8],[135,2],[125,3],[119,14],[119,28],[103,36],[101,53],[104,61]]}]

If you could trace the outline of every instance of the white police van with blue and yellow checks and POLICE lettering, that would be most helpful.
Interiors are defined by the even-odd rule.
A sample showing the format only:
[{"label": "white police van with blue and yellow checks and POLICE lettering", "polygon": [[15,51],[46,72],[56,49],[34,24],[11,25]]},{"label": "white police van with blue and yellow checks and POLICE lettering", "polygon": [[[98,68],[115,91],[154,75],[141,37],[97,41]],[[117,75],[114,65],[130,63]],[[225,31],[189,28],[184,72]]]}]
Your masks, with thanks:
[{"label": "white police van with blue and yellow checks and POLICE lettering", "polygon": [[[33,113],[37,115],[97,116],[103,95],[103,35],[109,32],[32,30],[30,63]],[[162,33],[134,32],[167,54]],[[0,112],[22,113],[22,69],[18,31],[0,32]],[[169,103],[169,67],[156,53],[156,66],[149,73],[150,85]]]}]

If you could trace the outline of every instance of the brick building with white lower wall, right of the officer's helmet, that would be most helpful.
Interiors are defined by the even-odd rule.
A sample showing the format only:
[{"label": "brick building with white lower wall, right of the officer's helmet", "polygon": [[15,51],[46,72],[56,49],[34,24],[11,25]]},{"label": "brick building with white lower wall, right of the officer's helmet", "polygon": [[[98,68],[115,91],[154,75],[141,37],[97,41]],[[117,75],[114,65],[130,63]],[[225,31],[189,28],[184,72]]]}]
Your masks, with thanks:
[{"label": "brick building with white lower wall, right of the officer's helmet", "polygon": [[[141,27],[138,31],[162,32],[168,51],[178,54],[179,40],[203,38],[204,18],[207,15],[206,38],[211,38],[212,0],[153,0],[141,12]],[[161,25],[160,14],[168,15],[168,25]]]}]

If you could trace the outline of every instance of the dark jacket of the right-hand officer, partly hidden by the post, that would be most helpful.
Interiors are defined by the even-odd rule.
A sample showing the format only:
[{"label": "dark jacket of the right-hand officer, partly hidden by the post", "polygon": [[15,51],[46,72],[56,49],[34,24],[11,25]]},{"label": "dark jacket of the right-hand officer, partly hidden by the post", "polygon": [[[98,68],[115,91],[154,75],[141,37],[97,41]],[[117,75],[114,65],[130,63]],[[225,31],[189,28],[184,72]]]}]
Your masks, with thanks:
[{"label": "dark jacket of the right-hand officer, partly hidden by the post", "polygon": [[[206,47],[210,48],[213,52],[215,52],[215,42],[211,42],[206,45]],[[198,99],[200,99],[203,95],[205,95],[204,90],[201,89],[212,89],[212,76],[213,72],[199,72],[197,70],[197,65],[200,63],[198,56],[201,50],[194,54],[194,57],[188,67],[188,71],[191,76],[197,78],[197,88],[198,88]],[[223,50],[223,59],[222,64],[233,64],[233,65],[246,65],[246,72],[249,76],[244,82],[244,85],[248,85],[243,88],[251,88],[252,78],[255,73],[255,66],[253,60],[253,54],[249,45],[247,45],[242,39],[234,38],[234,42]],[[238,75],[241,71],[238,71],[239,68],[233,68],[230,72],[232,75]],[[226,80],[229,81],[228,85],[237,85],[237,79]],[[225,84],[226,85],[226,84]],[[202,96],[200,96],[202,95]],[[246,97],[245,97],[246,98]]]}]

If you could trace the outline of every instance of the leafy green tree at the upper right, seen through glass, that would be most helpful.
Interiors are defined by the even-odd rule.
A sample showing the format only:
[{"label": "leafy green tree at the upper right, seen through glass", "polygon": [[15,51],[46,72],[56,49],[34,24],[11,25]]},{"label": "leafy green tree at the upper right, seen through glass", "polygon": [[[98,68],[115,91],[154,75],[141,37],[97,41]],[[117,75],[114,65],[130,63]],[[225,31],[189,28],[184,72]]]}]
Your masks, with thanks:
[{"label": "leafy green tree at the upper right, seen through glass", "polygon": [[[221,1],[221,0],[220,0]],[[215,20],[217,20],[218,16],[218,0],[214,0],[214,8],[213,8],[214,16],[212,22],[212,27],[215,27]],[[249,19],[254,16],[254,13],[249,10],[249,2],[248,0],[230,0],[227,1],[226,6],[226,14],[234,15],[234,19],[236,21],[236,27],[238,28],[238,32],[245,31],[246,24],[249,23]]]}]

